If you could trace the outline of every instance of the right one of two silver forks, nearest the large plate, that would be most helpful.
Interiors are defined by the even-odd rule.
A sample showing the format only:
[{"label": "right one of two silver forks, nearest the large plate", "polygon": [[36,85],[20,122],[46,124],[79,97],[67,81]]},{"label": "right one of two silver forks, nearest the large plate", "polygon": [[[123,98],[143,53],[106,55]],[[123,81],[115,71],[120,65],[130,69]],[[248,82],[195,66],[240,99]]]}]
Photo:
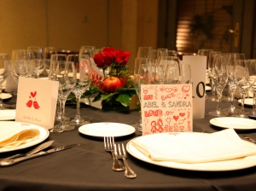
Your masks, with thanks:
[{"label": "right one of two silver forks, nearest the large plate", "polygon": [[116,147],[116,145],[114,145],[114,153],[117,156],[118,159],[123,159],[124,164],[125,164],[125,177],[128,178],[135,178],[137,177],[137,174],[131,170],[130,166],[128,165],[126,159],[127,159],[127,155],[125,152],[125,148],[124,148],[124,144],[122,143],[122,150],[120,148],[120,145],[118,144],[118,147]]}]

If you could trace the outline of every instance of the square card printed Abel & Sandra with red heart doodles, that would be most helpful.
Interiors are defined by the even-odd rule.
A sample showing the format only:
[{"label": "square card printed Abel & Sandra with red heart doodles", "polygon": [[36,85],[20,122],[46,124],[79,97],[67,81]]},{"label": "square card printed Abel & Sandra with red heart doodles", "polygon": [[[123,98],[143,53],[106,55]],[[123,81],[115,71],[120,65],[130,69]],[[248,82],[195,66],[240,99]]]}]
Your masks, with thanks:
[{"label": "square card printed Abel & Sandra with red heart doodles", "polygon": [[143,135],[193,131],[191,84],[145,84],[141,97]]}]

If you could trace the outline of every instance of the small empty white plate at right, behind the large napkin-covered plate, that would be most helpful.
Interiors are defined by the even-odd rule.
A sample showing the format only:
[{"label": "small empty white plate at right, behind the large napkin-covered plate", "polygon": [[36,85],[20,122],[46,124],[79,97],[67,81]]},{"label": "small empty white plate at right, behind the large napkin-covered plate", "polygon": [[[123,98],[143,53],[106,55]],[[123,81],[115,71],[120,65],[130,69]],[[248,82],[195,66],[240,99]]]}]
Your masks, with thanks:
[{"label": "small empty white plate at right, behind the large napkin-covered plate", "polygon": [[253,130],[256,129],[256,121],[253,119],[223,117],[210,120],[213,124],[222,128],[232,128],[236,130]]}]

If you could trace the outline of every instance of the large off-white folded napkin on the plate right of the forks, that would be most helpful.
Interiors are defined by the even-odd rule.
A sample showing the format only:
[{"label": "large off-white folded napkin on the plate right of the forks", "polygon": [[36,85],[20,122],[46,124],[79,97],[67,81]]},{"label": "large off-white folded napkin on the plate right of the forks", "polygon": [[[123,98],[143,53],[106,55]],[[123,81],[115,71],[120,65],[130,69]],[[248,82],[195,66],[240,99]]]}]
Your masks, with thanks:
[{"label": "large off-white folded napkin on the plate right of the forks", "polygon": [[162,133],[140,136],[132,145],[152,160],[203,163],[256,154],[256,145],[245,142],[234,129],[216,133]]}]

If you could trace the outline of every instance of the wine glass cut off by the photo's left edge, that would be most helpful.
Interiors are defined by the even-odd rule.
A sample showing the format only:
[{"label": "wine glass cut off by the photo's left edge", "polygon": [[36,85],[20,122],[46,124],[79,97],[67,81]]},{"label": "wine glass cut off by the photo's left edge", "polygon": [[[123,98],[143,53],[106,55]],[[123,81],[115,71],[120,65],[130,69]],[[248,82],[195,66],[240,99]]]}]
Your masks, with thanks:
[{"label": "wine glass cut off by the photo's left edge", "polygon": [[3,99],[2,99],[3,82],[9,76],[10,72],[11,72],[11,62],[9,59],[9,55],[0,53],[0,109],[10,108],[10,106],[3,103]]}]

